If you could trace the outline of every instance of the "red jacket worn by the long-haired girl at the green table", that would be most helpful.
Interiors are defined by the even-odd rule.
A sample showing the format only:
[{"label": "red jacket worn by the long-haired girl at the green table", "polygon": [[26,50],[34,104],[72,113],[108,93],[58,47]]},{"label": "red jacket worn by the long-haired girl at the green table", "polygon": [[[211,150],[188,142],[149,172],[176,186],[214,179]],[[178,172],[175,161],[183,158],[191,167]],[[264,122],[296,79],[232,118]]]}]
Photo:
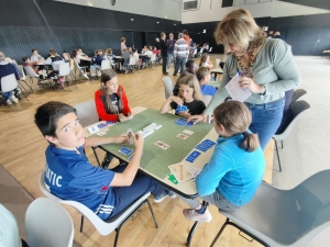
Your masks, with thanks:
[{"label": "red jacket worn by the long-haired girl at the green table", "polygon": [[[129,101],[128,101],[128,98],[127,98],[127,93],[125,93],[125,91],[123,90],[123,88],[121,86],[119,86],[118,90],[121,90],[121,99],[119,99],[119,100],[121,100],[122,104],[123,104],[122,112],[120,112],[120,113],[122,113],[124,115],[128,115],[129,113],[131,113],[131,109],[129,106]],[[117,96],[119,97],[118,93],[117,93]],[[102,97],[102,92],[99,89],[95,92],[95,105],[97,108],[99,119],[105,120],[105,121],[116,122],[118,114],[107,113],[106,106],[105,106],[105,103],[103,103],[101,97]]]}]

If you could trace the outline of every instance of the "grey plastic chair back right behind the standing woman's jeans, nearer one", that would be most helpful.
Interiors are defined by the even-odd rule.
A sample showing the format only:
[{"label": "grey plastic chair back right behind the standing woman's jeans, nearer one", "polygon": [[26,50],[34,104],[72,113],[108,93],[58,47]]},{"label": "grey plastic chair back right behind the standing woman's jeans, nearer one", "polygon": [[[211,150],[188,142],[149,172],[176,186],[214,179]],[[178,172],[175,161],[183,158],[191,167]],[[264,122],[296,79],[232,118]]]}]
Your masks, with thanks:
[{"label": "grey plastic chair back right behind the standing woman's jeans, nearer one", "polygon": [[296,122],[301,117],[301,114],[310,109],[310,104],[307,103],[305,100],[292,102],[290,104],[290,111],[293,114],[293,120],[287,125],[287,127],[280,134],[275,134],[273,138],[275,141],[283,141],[292,132],[293,127],[295,126]]}]

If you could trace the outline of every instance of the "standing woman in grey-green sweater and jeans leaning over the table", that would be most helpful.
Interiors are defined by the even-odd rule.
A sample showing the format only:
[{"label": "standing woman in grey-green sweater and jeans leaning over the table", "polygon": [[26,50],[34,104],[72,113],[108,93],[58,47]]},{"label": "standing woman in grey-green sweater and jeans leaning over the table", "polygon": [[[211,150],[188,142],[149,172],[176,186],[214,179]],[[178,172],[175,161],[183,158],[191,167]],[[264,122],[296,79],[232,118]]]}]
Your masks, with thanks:
[{"label": "standing woman in grey-green sweater and jeans leaning over the table", "polygon": [[229,55],[222,81],[204,114],[188,121],[197,123],[210,115],[228,96],[226,85],[240,70],[240,87],[252,92],[244,102],[252,113],[249,128],[258,135],[264,149],[280,124],[285,91],[301,82],[290,47],[280,40],[266,40],[250,12],[243,9],[228,13],[218,24],[215,37]]}]

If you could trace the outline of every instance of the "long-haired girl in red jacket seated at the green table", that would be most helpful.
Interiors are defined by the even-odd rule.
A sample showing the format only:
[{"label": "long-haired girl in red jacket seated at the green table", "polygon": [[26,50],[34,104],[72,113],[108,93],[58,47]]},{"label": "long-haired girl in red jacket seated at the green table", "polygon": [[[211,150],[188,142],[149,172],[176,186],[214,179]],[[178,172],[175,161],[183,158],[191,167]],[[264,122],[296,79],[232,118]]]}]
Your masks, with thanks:
[{"label": "long-haired girl in red jacket seated at the green table", "polygon": [[[129,100],[118,76],[106,69],[101,74],[101,88],[95,92],[95,105],[101,121],[127,122],[133,119]],[[101,166],[108,169],[113,156],[107,153]]]}]

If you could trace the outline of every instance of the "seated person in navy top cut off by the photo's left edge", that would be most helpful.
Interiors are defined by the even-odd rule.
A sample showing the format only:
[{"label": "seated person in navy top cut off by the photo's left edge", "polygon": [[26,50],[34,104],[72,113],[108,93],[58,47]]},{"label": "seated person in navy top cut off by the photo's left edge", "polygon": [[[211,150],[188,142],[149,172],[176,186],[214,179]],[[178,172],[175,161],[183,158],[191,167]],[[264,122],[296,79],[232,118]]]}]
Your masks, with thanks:
[{"label": "seated person in navy top cut off by the photo's left edge", "polygon": [[[16,78],[16,80],[20,79],[20,72],[18,71],[16,67],[6,60],[6,56],[3,53],[0,52],[0,81],[3,77],[7,77],[9,75],[13,74]],[[0,83],[0,91],[1,89],[1,83]],[[12,91],[10,92],[2,92],[2,97],[4,98],[6,102],[8,104],[12,104],[12,102],[18,103],[20,96],[19,89],[14,89],[14,94],[12,94]]]}]

